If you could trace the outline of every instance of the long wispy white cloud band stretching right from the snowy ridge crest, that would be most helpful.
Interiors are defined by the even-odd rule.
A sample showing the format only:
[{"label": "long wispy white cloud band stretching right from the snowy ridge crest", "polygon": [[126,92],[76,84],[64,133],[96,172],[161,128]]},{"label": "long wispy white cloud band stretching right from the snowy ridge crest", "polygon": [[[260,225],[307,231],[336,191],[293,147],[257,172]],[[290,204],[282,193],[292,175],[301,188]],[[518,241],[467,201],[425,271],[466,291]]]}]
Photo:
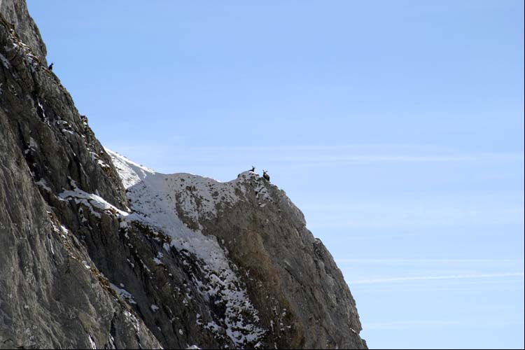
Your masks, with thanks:
[{"label": "long wispy white cloud band stretching right from the snowy ridge crest", "polygon": [[[109,148],[134,157],[152,155],[165,163],[190,162],[210,167],[217,159],[221,167],[239,167],[246,162],[264,162],[272,167],[332,167],[369,163],[523,162],[524,153],[463,153],[424,145],[285,145],[285,146],[179,146],[177,144],[114,143]],[[154,167],[155,165],[150,165]],[[172,172],[176,172],[173,169]]]}]

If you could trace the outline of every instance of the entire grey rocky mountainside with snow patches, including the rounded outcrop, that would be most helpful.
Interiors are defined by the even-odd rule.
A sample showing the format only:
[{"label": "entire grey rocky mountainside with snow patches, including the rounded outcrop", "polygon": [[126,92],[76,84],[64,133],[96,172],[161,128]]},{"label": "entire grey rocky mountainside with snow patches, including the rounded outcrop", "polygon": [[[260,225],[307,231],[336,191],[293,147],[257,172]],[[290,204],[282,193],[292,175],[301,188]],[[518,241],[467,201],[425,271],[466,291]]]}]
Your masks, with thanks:
[{"label": "entire grey rocky mountainside with snow patches, including the rounded outcrop", "polygon": [[0,348],[366,347],[283,191],[104,150],[25,1],[0,10]]}]

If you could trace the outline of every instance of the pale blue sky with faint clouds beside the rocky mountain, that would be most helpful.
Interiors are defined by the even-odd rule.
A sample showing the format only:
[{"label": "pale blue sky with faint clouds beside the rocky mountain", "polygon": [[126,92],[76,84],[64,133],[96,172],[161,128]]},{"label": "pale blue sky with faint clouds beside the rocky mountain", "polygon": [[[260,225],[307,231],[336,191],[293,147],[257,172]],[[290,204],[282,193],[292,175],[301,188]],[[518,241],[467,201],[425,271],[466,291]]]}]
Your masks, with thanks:
[{"label": "pale blue sky with faint clouds beside the rocky mountain", "polygon": [[371,348],[524,347],[522,1],[28,5],[104,146],[269,170]]}]

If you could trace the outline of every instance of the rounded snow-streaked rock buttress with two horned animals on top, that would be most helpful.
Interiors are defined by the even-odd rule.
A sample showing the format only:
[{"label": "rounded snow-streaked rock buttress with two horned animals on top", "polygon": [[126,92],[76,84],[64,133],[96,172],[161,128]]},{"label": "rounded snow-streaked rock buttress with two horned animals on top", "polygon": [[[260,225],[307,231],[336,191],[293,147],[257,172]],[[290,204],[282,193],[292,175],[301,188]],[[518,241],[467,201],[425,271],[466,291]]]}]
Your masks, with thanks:
[{"label": "rounded snow-streaked rock buttress with two horned animals on top", "polygon": [[[293,344],[292,339],[308,337],[304,332],[321,335],[321,339],[305,342],[310,346],[364,344],[356,332],[360,323],[353,299],[346,304],[349,294],[344,295],[344,290],[348,288],[339,270],[283,191],[254,172],[243,172],[237,179],[221,183],[193,174],[160,174],[116,152],[106,152],[130,201],[130,214],[123,216],[121,226],[140,222],[169,237],[164,251],[158,253],[160,258],[155,258],[158,263],[171,248],[192,254],[202,272],[201,278],[192,275],[193,283],[206,300],[225,305],[224,314],[212,311],[208,315],[212,321],[204,328],[216,335],[225,333],[237,347],[272,342],[277,346],[287,337],[286,344]],[[253,278],[258,274],[262,276]],[[323,292],[317,294],[314,290],[318,289]],[[309,311],[310,306],[304,306],[325,298],[345,300],[332,307],[343,308],[337,313],[349,322],[347,332],[356,341],[324,335],[321,329],[340,323],[341,316],[332,316],[327,309],[328,314],[321,314],[327,319],[320,322],[316,320],[319,316],[311,313],[318,307]]]}]

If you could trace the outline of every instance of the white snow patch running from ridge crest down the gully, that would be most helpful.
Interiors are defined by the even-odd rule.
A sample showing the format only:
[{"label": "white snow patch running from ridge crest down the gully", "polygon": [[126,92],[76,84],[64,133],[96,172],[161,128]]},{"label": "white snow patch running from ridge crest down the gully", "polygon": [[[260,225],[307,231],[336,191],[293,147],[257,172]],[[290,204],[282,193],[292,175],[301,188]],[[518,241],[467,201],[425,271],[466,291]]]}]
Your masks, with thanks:
[{"label": "white snow patch running from ridge crest down the gully", "polygon": [[[237,346],[257,342],[265,333],[255,325],[258,311],[248,299],[235,265],[230,264],[216,237],[202,234],[200,221],[216,216],[221,206],[241,200],[240,196],[246,193],[246,183],[258,179],[258,176],[244,172],[233,181],[221,183],[193,174],[160,174],[107,148],[106,152],[111,156],[130,200],[132,213],[125,220],[139,221],[161,230],[172,239],[171,246],[178,251],[193,253],[202,260],[204,265],[200,268],[207,281],[195,279],[194,282],[207,300],[221,300],[225,305],[221,324],[228,337]],[[260,195],[269,197],[265,186],[258,187]],[[195,225],[189,228],[181,216],[190,218]],[[204,284],[209,288],[202,288]],[[246,314],[250,319],[244,316]],[[219,332],[218,328],[217,325],[209,327],[216,332]]]}]

